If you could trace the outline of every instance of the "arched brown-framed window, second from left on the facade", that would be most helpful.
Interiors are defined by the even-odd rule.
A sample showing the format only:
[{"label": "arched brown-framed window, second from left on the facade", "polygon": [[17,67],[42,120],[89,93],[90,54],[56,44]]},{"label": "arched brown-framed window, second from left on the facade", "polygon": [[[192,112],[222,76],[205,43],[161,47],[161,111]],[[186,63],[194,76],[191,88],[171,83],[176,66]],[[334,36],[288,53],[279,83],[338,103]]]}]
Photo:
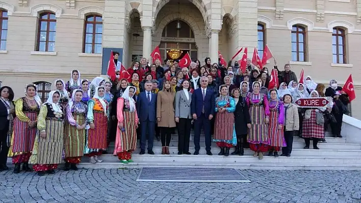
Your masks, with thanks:
[{"label": "arched brown-framed window, second from left on the facade", "polygon": [[46,12],[40,14],[36,51],[55,51],[56,25],[57,19],[54,13]]}]

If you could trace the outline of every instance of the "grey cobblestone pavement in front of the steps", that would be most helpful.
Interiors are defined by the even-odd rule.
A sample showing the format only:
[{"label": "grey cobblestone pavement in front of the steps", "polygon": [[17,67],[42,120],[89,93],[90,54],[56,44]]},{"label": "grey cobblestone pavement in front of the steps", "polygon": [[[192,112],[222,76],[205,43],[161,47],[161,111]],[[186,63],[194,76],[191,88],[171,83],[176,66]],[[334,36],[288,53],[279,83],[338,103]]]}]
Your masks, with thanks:
[{"label": "grey cobblestone pavement in front of the steps", "polygon": [[136,181],[139,169],[0,172],[0,202],[361,202],[361,171],[242,170],[251,183]]}]

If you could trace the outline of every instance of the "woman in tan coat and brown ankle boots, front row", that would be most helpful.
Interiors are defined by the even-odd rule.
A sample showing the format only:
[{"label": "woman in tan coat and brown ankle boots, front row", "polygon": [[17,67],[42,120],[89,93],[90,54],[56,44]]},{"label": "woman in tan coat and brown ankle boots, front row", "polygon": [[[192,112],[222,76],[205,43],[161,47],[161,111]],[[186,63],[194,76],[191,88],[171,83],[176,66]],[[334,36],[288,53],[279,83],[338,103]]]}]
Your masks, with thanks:
[{"label": "woman in tan coat and brown ankle boots, front row", "polygon": [[162,154],[169,154],[171,129],[175,127],[174,96],[175,92],[171,88],[171,83],[166,80],[157,98],[157,122],[161,129]]}]

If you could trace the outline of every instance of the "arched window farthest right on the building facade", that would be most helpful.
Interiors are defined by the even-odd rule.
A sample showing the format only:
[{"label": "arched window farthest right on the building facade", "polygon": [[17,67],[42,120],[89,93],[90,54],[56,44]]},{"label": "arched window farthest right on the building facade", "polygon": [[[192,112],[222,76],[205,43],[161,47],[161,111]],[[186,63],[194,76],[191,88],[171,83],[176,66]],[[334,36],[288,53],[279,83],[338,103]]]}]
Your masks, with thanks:
[{"label": "arched window farthest right on the building facade", "polygon": [[332,63],[346,64],[345,30],[333,27],[332,32]]}]

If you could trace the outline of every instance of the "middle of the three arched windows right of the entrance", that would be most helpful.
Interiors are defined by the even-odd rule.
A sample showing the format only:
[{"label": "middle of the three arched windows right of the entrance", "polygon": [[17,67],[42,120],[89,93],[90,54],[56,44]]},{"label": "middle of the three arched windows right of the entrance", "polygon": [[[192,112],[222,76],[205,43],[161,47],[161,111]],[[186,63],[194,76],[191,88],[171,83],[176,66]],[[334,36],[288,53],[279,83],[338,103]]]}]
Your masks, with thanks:
[{"label": "middle of the three arched windows right of the entrance", "polygon": [[306,37],[306,32],[304,27],[300,25],[292,26],[292,32],[291,32],[292,61],[297,61],[297,62],[306,61],[305,37]]}]

